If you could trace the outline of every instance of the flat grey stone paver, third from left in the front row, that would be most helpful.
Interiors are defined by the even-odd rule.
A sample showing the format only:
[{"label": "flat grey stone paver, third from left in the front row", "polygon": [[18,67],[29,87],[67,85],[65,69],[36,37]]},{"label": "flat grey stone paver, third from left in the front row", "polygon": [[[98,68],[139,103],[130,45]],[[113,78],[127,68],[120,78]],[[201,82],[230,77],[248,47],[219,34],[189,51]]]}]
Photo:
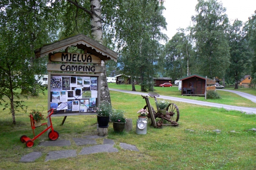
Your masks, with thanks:
[{"label": "flat grey stone paver, third from left in the front row", "polygon": [[113,147],[113,144],[98,144],[92,147],[83,147],[79,155],[88,155],[91,153],[101,153],[101,152],[118,152],[118,150]]}]

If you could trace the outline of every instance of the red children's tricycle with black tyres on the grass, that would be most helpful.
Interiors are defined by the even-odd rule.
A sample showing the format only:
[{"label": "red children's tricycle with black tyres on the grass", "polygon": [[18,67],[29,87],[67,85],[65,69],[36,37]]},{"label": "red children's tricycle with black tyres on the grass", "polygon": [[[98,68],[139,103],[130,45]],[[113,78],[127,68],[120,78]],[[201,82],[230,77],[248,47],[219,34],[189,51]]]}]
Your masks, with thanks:
[{"label": "red children's tricycle with black tyres on the grass", "polygon": [[[46,132],[47,130],[49,130],[51,128],[51,131],[49,131],[48,133],[48,137],[50,140],[55,141],[58,139],[59,134],[57,131],[55,131],[52,127],[52,119],[51,119],[51,115],[54,113],[54,109],[50,109],[48,112],[51,112],[46,118],[49,117],[49,121],[50,121],[50,126],[47,125],[47,123],[42,123],[42,125],[47,125],[47,128],[45,130],[43,130],[41,133],[39,133],[37,136],[35,136],[35,122],[34,122],[34,118],[33,116],[30,114],[30,123],[31,123],[31,128],[33,130],[34,133],[34,138],[30,139],[29,137],[27,137],[26,135],[23,135],[20,137],[20,141],[23,143],[26,143],[26,147],[32,147],[34,145],[34,141],[35,139],[37,139],[39,136],[41,136],[44,132]],[[41,125],[41,126],[42,126]]]}]

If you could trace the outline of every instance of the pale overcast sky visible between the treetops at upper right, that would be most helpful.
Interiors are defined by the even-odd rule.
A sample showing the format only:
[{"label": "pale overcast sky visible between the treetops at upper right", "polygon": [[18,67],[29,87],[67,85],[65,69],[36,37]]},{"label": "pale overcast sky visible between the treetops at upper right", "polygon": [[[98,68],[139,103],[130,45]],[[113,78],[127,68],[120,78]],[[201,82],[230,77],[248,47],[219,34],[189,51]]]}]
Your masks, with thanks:
[{"label": "pale overcast sky visible between the treetops at upper right", "polygon": [[[229,20],[241,20],[246,22],[256,10],[256,0],[218,0],[227,9]],[[178,28],[192,26],[191,16],[195,15],[197,0],[165,0],[163,16],[166,18],[167,31],[163,30],[169,39],[177,33]],[[233,22],[231,22],[233,23]]]}]

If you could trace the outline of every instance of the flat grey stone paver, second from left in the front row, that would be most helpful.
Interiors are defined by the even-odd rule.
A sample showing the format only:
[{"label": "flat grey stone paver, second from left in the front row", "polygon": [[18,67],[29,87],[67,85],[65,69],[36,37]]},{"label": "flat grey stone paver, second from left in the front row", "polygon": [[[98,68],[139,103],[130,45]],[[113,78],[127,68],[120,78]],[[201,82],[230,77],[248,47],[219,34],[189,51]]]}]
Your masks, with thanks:
[{"label": "flat grey stone paver, second from left in the front row", "polygon": [[49,152],[45,158],[45,161],[56,160],[61,158],[70,158],[76,156],[76,150],[57,150]]}]

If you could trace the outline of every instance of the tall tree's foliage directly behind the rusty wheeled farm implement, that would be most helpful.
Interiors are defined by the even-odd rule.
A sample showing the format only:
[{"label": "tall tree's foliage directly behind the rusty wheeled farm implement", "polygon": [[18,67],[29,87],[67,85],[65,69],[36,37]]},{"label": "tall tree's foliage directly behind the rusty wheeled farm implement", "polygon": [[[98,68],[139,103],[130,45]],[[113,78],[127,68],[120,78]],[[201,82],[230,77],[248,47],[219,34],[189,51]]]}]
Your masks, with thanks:
[{"label": "tall tree's foliage directly behind the rusty wheeled farm implement", "polygon": [[[109,2],[109,1],[108,1]],[[166,28],[162,15],[163,2],[158,0],[111,0],[111,11],[105,12],[108,23],[113,23],[105,36],[114,37],[119,49],[119,68],[133,79],[140,77],[141,91],[152,91],[162,55],[159,40]],[[106,9],[106,8],[105,8]],[[102,10],[104,11],[104,9]],[[106,28],[105,28],[106,29]]]}]

